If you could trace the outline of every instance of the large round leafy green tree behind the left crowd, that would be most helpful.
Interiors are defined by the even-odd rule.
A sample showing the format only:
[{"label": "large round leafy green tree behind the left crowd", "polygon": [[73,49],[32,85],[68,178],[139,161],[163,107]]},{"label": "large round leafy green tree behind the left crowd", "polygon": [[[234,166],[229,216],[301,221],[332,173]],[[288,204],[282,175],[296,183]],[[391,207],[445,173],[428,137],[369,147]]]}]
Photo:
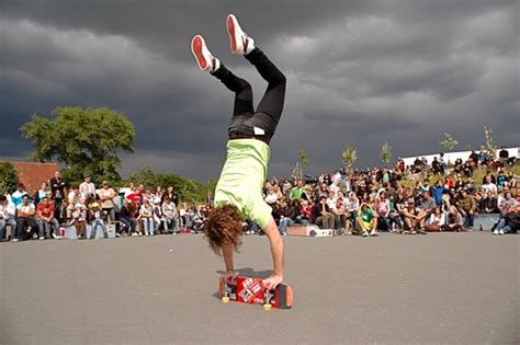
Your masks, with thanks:
[{"label": "large round leafy green tree behind the left crowd", "polygon": [[120,181],[122,161],[117,151],[133,152],[134,125],[121,113],[106,107],[57,107],[54,119],[34,114],[20,130],[32,140],[31,159],[65,163],[63,171],[70,182],[79,182],[88,173],[92,180]]}]

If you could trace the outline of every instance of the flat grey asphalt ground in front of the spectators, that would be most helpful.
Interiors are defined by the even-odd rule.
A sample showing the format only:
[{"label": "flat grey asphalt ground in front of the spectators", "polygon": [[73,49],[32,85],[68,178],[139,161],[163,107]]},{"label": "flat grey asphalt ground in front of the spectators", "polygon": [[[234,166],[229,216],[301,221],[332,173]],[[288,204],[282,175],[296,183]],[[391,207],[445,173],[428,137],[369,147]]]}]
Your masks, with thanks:
[{"label": "flat grey asphalt ground in front of the spectators", "polygon": [[[519,343],[519,235],[284,238],[291,310],[223,304],[201,235],[0,243],[2,344]],[[247,237],[237,267],[271,268]]]}]

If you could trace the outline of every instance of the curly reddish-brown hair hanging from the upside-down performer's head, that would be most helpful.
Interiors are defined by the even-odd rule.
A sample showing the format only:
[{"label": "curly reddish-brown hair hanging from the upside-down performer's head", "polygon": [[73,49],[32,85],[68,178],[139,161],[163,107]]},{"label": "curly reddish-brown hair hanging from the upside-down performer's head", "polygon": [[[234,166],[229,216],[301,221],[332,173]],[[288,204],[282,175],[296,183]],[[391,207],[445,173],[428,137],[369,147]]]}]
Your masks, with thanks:
[{"label": "curly reddish-brown hair hanging from the upside-down performer's head", "polygon": [[222,255],[223,244],[233,244],[235,251],[242,243],[244,218],[235,205],[223,205],[215,207],[204,223],[204,234],[210,242],[210,248],[217,255]]}]

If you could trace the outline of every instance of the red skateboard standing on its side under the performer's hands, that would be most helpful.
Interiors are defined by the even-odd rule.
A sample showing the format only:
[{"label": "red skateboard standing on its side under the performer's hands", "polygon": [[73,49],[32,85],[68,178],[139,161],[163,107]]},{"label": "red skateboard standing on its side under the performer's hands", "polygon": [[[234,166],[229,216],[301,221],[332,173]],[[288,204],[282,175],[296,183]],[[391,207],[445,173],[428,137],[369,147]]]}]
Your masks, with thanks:
[{"label": "red skateboard standing on its side under the performer's hands", "polygon": [[274,290],[268,290],[260,278],[237,276],[228,284],[221,278],[218,292],[224,303],[231,300],[263,304],[264,310],[290,309],[293,306],[293,289],[289,285],[281,283]]}]

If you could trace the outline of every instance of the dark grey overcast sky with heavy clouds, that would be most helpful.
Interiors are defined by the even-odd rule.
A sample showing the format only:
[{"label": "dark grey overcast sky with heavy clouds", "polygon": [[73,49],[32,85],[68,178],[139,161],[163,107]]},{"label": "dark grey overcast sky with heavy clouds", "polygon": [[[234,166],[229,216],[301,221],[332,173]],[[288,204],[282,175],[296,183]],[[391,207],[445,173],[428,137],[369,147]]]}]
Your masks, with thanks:
[{"label": "dark grey overcast sky with heavy clouds", "polygon": [[265,83],[229,50],[225,19],[287,77],[270,173],[289,174],[299,148],[309,173],[434,153],[443,133],[477,147],[519,145],[519,8],[501,0],[24,1],[0,4],[0,158],[25,159],[19,127],[60,105],[108,106],[135,125],[123,174],[150,165],[206,181],[225,159],[233,94],[197,69],[202,34],[253,85]]}]

